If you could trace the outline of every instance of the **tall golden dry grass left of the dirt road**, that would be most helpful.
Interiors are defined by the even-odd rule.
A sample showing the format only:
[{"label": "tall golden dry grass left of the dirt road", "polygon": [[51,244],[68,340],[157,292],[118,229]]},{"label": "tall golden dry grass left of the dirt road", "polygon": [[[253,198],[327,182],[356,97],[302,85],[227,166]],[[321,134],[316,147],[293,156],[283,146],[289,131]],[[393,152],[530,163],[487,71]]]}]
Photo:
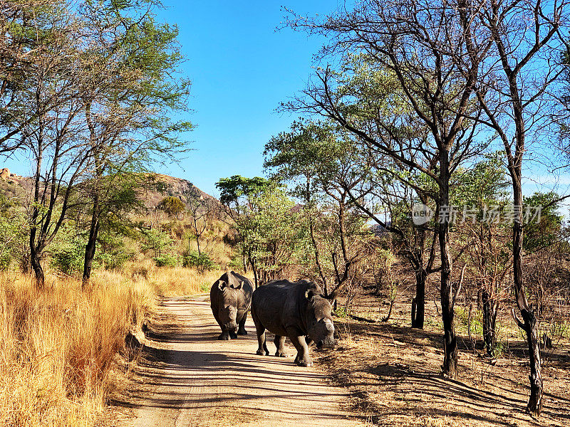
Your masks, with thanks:
[{"label": "tall golden dry grass left of the dirt road", "polygon": [[97,272],[87,290],[0,275],[0,425],[90,426],[120,375],[125,334],[153,303],[144,280]]}]

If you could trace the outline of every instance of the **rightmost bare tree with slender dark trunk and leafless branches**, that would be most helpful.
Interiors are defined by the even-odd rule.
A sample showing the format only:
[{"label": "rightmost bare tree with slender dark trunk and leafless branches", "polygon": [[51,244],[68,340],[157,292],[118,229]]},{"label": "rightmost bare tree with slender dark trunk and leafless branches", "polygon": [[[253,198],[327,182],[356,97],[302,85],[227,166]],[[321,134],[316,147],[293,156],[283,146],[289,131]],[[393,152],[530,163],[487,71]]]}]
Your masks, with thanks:
[{"label": "rightmost bare tree with slender dark trunk and leafless branches", "polygon": [[[522,320],[516,316],[515,320],[529,345],[531,392],[527,411],[539,416],[543,384],[537,312],[528,301],[522,269],[522,173],[524,154],[533,148],[527,144],[527,137],[544,136],[551,125],[551,113],[556,111],[557,100],[552,94],[564,72],[557,58],[566,52],[569,4],[564,0],[480,1],[466,6],[463,14],[465,23],[475,23],[479,28],[477,35],[465,31],[469,57],[480,55],[477,39],[485,40],[485,46],[491,43],[484,67],[494,78],[477,81],[475,93],[486,115],[484,125],[502,142],[512,181],[516,208],[512,233],[514,295],[522,316]],[[458,58],[457,63],[467,69],[469,61]]]}]

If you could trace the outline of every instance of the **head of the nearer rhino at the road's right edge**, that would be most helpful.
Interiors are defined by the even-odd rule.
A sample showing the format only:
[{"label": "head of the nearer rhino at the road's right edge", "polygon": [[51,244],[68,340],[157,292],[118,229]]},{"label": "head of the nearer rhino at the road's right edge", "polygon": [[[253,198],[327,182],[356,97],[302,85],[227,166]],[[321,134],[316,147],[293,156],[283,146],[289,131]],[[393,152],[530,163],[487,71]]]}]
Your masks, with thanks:
[{"label": "head of the nearer rhino at the road's right edge", "polygon": [[337,292],[328,297],[323,296],[319,288],[310,288],[305,292],[308,300],[306,308],[307,334],[311,341],[315,342],[318,349],[333,348],[336,344],[334,339],[334,324],[332,302],[336,300]]}]

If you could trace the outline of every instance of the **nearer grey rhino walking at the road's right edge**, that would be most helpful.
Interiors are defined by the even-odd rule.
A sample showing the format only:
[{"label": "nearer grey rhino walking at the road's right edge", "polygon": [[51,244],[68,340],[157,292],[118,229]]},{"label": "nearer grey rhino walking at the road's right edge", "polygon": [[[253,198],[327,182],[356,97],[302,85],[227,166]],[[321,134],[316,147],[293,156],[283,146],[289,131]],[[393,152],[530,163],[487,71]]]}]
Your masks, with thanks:
[{"label": "nearer grey rhino walking at the road's right edge", "polygon": [[311,367],[309,357],[311,341],[317,348],[334,347],[334,325],[331,316],[331,302],[323,290],[307,280],[271,280],[254,291],[252,298],[252,319],[257,330],[259,348],[257,354],[269,356],[265,342],[265,330],[275,334],[277,357],[284,353],[285,337],[289,337],[297,349],[295,363]]}]

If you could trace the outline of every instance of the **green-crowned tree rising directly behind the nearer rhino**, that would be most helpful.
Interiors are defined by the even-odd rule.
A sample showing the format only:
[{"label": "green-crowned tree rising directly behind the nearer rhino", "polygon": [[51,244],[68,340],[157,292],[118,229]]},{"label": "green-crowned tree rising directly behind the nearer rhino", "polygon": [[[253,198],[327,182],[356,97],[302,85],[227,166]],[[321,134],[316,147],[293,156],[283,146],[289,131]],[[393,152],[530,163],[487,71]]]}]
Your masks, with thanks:
[{"label": "green-crowned tree rising directly behind the nearer rhino", "polygon": [[[271,138],[264,154],[264,166],[273,170],[274,179],[296,184],[293,192],[304,203],[318,275],[327,295],[332,294],[348,283],[353,266],[363,256],[353,244],[362,221],[350,191],[366,178],[357,173],[361,158],[356,147],[339,139],[329,125],[296,122],[291,132]],[[333,221],[326,221],[326,212]],[[319,226],[328,227],[323,234],[330,240],[325,245],[329,262],[318,243]]]}]

